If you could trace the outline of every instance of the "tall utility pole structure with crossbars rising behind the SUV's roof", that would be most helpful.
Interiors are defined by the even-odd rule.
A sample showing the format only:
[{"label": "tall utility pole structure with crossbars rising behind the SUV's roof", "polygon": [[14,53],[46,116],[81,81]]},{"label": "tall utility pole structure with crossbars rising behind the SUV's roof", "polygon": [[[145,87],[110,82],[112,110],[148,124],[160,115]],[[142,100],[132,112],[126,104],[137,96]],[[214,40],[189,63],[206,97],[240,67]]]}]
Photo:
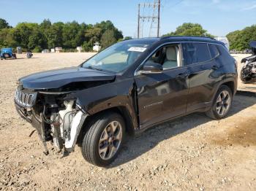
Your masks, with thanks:
[{"label": "tall utility pole structure with crossbars rising behind the SUV's roof", "polygon": [[[160,7],[161,7],[161,1],[160,0],[154,0],[154,3],[143,3],[138,4],[138,32],[137,36],[140,38],[140,36],[143,36],[143,23],[147,21],[148,23],[151,22],[150,31],[152,28],[157,28],[157,37],[159,37],[160,34]],[[143,12],[141,13],[140,9],[143,8]],[[157,8],[157,16],[155,14],[155,9]],[[144,15],[144,9],[153,9],[152,15]],[[153,23],[156,23],[157,20],[157,27],[153,27]],[[140,30],[141,35],[140,35]],[[150,36],[150,34],[149,34]]]}]

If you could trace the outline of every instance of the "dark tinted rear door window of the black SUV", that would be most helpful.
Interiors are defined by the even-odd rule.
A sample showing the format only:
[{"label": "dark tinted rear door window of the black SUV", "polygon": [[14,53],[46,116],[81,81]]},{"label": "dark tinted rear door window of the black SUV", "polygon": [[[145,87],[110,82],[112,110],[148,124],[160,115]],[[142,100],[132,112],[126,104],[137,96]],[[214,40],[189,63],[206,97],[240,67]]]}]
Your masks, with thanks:
[{"label": "dark tinted rear door window of the black SUV", "polygon": [[202,63],[211,60],[211,55],[206,43],[187,42],[182,44],[184,65]]}]

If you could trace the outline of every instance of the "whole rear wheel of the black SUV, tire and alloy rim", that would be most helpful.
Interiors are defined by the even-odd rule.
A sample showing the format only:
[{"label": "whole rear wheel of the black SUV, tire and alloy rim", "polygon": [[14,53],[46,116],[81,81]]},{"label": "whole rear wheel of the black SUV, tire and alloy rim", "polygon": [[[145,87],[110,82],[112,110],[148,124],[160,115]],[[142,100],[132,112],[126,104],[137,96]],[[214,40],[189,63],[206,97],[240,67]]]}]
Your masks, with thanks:
[{"label": "whole rear wheel of the black SUV, tire and alloy rim", "polygon": [[212,104],[211,109],[206,112],[206,115],[214,120],[224,118],[230,110],[232,100],[233,96],[230,87],[222,85],[219,87],[214,98],[214,103]]}]

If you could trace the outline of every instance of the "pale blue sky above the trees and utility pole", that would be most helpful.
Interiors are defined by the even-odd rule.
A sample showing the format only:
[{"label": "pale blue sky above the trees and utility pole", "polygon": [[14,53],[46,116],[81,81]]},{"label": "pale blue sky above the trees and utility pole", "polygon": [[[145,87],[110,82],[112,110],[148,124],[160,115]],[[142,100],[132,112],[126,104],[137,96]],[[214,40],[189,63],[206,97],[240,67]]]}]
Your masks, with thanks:
[{"label": "pale blue sky above the trees and utility pole", "polygon": [[[138,4],[152,1],[0,0],[0,17],[11,26],[20,22],[41,23],[45,18],[53,23],[76,20],[78,23],[94,24],[111,20],[124,36],[135,37]],[[200,23],[214,36],[225,36],[230,31],[256,24],[256,0],[162,0],[161,4],[160,34],[175,31],[177,26],[185,22]],[[141,13],[152,15],[146,8],[142,8]],[[150,25],[145,22],[143,36],[149,36]],[[151,31],[151,36],[154,36],[155,31]]]}]

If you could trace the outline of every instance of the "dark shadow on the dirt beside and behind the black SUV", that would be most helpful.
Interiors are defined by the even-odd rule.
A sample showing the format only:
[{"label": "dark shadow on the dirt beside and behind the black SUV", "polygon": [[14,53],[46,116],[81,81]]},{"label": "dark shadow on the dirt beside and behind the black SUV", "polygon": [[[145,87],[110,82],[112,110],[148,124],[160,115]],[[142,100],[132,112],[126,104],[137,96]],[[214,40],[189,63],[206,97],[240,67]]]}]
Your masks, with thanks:
[{"label": "dark shadow on the dirt beside and behind the black SUV", "polygon": [[[246,99],[248,96],[253,98]],[[254,104],[256,104],[255,93],[238,92],[233,99],[233,107],[230,109],[227,117],[241,112]],[[165,141],[165,139],[171,139],[180,133],[184,133],[187,130],[196,128],[198,125],[202,125],[209,121],[211,121],[211,119],[206,117],[203,113],[189,114],[186,117],[180,117],[176,120],[170,120],[169,122],[154,126],[141,133],[140,136],[128,136],[120,154],[108,168],[114,168],[118,165],[128,163],[153,149],[157,144]]]}]

